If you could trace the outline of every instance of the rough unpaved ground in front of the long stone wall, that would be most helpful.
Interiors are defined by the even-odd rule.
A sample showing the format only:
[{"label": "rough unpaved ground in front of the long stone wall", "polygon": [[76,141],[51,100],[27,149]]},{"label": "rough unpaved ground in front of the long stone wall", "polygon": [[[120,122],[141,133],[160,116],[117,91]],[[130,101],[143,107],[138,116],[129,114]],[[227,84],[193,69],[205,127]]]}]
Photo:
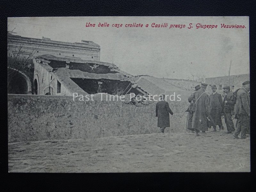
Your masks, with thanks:
[{"label": "rough unpaved ground in front of the long stone wall", "polygon": [[8,144],[9,172],[249,172],[250,140],[208,132]]}]

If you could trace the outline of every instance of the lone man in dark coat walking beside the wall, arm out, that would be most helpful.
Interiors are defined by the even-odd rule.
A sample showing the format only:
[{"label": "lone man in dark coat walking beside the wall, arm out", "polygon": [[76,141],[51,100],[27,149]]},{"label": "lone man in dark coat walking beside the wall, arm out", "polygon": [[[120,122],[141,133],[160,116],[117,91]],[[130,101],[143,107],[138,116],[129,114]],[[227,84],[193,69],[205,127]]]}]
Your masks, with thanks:
[{"label": "lone man in dark coat walking beside the wall, arm out", "polygon": [[164,100],[165,95],[160,95],[160,101],[156,103],[157,127],[164,133],[165,127],[170,127],[169,113],[173,115],[169,104]]}]

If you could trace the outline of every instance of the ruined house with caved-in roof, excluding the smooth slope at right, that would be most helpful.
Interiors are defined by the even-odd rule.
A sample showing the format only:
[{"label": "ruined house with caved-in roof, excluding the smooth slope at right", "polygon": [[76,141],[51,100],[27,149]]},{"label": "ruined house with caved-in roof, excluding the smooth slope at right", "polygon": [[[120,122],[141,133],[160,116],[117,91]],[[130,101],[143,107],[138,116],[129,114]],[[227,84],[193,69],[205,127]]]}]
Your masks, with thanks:
[{"label": "ruined house with caved-in roof, excluding the smooth slope at right", "polygon": [[108,93],[147,95],[133,76],[116,65],[100,61],[42,55],[34,60],[34,94],[67,95]]}]

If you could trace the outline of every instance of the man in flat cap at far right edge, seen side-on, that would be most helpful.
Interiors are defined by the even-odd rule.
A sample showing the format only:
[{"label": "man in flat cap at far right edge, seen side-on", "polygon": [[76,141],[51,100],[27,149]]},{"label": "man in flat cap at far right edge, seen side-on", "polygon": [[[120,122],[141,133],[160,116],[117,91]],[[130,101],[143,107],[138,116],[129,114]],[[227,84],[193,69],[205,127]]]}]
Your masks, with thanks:
[{"label": "man in flat cap at far right edge, seen side-on", "polygon": [[238,139],[238,134],[241,132],[241,139],[246,139],[246,132],[250,134],[250,81],[245,81],[243,87],[237,92],[236,99],[236,114],[238,116],[238,124],[234,137]]}]

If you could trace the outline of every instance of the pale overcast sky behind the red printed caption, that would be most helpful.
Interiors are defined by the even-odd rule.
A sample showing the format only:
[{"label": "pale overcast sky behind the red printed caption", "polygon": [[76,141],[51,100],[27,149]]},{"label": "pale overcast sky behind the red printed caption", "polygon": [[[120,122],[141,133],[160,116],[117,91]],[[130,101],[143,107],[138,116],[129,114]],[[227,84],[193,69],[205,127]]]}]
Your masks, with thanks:
[{"label": "pale overcast sky behind the red printed caption", "polygon": [[[95,23],[95,27],[85,27]],[[107,22],[109,27],[98,27]],[[112,24],[123,24],[113,28]],[[142,28],[125,24],[143,24]],[[168,23],[167,28],[151,24]],[[193,28],[188,29],[189,23]],[[196,24],[217,25],[196,29]],[[221,28],[244,25],[245,28]],[[146,28],[146,24],[149,24]],[[185,28],[169,28],[171,24]],[[14,29],[15,28],[15,29]],[[192,79],[249,73],[248,17],[34,17],[8,18],[8,31],[24,37],[51,38],[54,41],[93,41],[100,45],[100,61],[116,64],[132,75]]]}]

